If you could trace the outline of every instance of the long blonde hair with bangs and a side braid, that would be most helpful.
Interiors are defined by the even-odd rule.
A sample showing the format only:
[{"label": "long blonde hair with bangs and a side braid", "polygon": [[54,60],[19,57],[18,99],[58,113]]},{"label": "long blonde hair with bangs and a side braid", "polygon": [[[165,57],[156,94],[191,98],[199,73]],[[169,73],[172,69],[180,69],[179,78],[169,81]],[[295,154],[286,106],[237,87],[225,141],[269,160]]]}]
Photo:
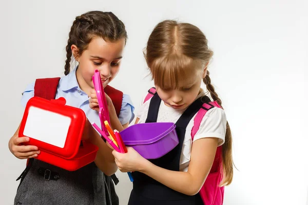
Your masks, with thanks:
[{"label": "long blonde hair with bangs and a side braid", "polygon": [[[204,69],[213,52],[207,39],[196,26],[165,20],[150,34],[144,51],[148,68],[155,84],[161,88],[176,89],[196,69]],[[211,98],[221,106],[221,99],[211,84],[207,71],[203,82]],[[232,134],[227,122],[225,143],[222,146],[223,180],[220,186],[229,185],[233,179]]]}]

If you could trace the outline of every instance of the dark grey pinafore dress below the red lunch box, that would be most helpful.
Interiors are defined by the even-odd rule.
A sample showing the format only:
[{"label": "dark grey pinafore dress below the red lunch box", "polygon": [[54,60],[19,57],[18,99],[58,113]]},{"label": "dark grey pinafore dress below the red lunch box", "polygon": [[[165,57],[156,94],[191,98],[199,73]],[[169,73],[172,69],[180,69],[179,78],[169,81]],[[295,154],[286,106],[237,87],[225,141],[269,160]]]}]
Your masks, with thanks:
[{"label": "dark grey pinafore dress below the red lunch box", "polygon": [[69,172],[32,159],[21,175],[14,205],[103,204],[118,205],[110,176],[95,165]]}]

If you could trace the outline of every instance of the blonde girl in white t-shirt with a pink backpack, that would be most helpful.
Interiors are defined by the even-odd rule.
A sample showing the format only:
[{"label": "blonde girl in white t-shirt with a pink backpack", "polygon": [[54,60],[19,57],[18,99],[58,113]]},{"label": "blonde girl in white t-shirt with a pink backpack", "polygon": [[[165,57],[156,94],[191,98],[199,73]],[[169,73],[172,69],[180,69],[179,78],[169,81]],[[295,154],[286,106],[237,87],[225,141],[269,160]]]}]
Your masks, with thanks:
[{"label": "blonde girl in white t-shirt with a pink backpack", "polygon": [[[223,187],[233,178],[232,136],[209,77],[212,55],[194,25],[165,20],[150,34],[144,56],[155,88],[136,123],[174,122],[179,144],[151,160],[129,147],[125,154],[112,152],[119,169],[134,178],[129,205],[222,204]],[[120,122],[115,126],[123,129]]]}]

